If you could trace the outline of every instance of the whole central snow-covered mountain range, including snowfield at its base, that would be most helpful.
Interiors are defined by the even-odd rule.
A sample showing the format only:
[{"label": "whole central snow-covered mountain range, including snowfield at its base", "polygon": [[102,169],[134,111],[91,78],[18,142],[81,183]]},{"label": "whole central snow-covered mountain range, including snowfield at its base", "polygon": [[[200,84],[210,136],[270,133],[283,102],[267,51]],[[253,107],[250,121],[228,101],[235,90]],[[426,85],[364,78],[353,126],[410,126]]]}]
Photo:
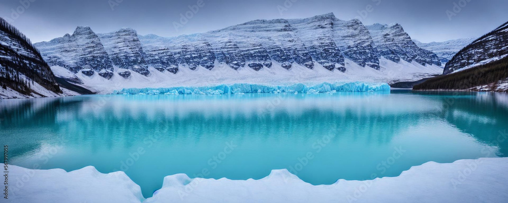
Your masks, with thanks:
[{"label": "whole central snow-covered mountain range, including snowfield at its base", "polygon": [[442,72],[439,57],[418,47],[399,24],[364,26],[333,13],[254,20],[172,38],[139,36],[131,28],[96,34],[77,27],[73,35],[35,45],[56,75],[75,74],[99,92],[223,83],[398,82]]}]

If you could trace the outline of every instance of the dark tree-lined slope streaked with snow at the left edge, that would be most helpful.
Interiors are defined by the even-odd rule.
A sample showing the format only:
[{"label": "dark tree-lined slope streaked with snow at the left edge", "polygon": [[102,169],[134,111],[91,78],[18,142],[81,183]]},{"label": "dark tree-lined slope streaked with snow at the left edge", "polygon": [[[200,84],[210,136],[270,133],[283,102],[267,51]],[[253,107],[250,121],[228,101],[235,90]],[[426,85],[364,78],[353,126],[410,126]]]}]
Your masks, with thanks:
[{"label": "dark tree-lined slope streaked with snow at the left edge", "polygon": [[0,86],[0,98],[63,93],[39,51],[3,18],[0,18]]}]

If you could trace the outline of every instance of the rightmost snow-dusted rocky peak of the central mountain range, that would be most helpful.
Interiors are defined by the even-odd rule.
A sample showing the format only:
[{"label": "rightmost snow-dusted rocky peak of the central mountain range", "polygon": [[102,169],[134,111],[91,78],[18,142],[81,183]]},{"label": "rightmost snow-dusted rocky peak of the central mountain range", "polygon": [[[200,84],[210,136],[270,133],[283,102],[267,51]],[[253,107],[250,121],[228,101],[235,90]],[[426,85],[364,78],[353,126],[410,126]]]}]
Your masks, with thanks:
[{"label": "rightmost snow-dusted rocky peak of the central mountain range", "polygon": [[431,51],[418,47],[401,25],[376,23],[368,25],[367,28],[379,54],[385,58],[394,62],[402,59],[408,62],[415,60],[422,65],[441,65],[439,57]]}]

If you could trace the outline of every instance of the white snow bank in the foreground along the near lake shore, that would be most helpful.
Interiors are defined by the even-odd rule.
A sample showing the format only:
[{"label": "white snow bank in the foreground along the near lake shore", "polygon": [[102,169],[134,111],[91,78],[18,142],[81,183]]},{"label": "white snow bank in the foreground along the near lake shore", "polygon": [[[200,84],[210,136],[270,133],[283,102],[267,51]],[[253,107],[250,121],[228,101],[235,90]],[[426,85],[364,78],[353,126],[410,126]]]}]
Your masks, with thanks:
[{"label": "white snow bank in the foreground along the near lake shore", "polygon": [[[94,167],[28,170],[10,166],[11,202],[505,202],[508,158],[427,162],[398,177],[339,180],[313,186],[287,170],[260,180],[164,178],[163,188],[144,199],[123,172],[101,174]],[[149,173],[149,172],[147,172]]]}]

